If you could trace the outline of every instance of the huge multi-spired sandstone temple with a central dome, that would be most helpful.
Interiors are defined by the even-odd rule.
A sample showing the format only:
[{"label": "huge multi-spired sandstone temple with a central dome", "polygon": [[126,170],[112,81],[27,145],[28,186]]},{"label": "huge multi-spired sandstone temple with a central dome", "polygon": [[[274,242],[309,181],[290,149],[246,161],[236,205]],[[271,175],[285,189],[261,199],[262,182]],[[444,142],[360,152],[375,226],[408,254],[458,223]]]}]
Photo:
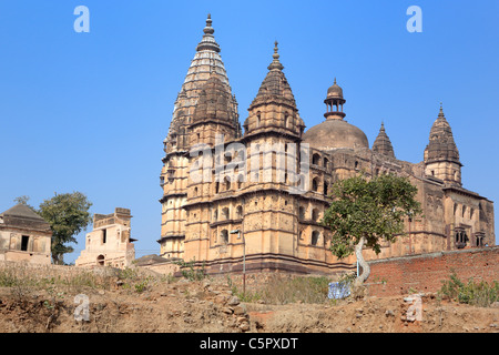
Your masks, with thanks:
[{"label": "huge multi-spired sandstone temple with a central dome", "polygon": [[[383,245],[379,255],[366,251],[367,260],[495,244],[493,204],[462,186],[459,151],[441,108],[416,164],[396,158],[383,124],[370,146],[347,122],[336,80],[326,92],[324,122],[305,130],[276,43],[241,126],[220,52],[208,17],[164,140],[161,256],[204,262],[212,273],[241,271],[243,256],[253,272],[350,268],[355,256],[333,256],[333,231],[319,222],[330,185],[360,172],[408,176],[424,209],[424,217],[406,222],[407,237]],[[261,154],[262,146],[277,149]],[[306,146],[308,154],[295,150]],[[286,166],[309,169],[293,174],[279,164],[282,155]],[[194,179],[205,166],[203,179]],[[305,192],[296,193],[304,182]]]}]

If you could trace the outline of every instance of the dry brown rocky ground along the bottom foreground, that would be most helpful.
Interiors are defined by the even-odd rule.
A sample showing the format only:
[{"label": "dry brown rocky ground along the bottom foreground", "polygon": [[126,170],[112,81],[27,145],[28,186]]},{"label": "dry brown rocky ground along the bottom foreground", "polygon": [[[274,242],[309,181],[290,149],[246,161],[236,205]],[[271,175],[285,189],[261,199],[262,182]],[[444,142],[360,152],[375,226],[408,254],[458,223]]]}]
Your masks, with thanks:
[{"label": "dry brown rocky ground along the bottom foreground", "polygon": [[[224,281],[157,282],[69,292],[58,287],[0,288],[1,333],[498,333],[499,307],[475,307],[422,296],[421,321],[408,321],[403,296],[320,304],[241,302]],[[61,291],[62,290],[62,291]],[[78,292],[78,293],[77,293]],[[89,321],[75,321],[77,294]]]}]

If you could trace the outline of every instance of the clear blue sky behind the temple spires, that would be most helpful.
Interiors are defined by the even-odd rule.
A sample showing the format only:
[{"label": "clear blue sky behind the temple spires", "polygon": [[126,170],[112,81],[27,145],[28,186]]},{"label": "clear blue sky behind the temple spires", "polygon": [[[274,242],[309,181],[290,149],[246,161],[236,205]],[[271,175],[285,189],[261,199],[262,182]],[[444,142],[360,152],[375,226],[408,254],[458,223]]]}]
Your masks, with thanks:
[{"label": "clear blue sky behind the temple spires", "polygon": [[[78,6],[89,33],[73,29]],[[346,120],[369,144],[384,121],[396,156],[418,163],[442,102],[464,186],[499,201],[497,0],[1,0],[0,211],[80,191],[92,213],[131,209],[136,256],[159,254],[162,142],[208,12],[241,122],[277,40],[307,128],[336,77]]]}]

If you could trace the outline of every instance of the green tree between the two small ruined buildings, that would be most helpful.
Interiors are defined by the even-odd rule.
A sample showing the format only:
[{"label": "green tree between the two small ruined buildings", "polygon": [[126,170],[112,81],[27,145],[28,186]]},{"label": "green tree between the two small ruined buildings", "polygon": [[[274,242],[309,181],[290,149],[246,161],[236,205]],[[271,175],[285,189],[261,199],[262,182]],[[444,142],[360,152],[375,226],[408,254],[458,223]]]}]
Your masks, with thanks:
[{"label": "green tree between the two small ruined buildings", "polygon": [[52,229],[52,262],[63,264],[67,253],[73,247],[68,243],[77,243],[75,235],[85,230],[92,222],[89,212],[91,202],[81,192],[55,194],[40,204],[38,213]]}]

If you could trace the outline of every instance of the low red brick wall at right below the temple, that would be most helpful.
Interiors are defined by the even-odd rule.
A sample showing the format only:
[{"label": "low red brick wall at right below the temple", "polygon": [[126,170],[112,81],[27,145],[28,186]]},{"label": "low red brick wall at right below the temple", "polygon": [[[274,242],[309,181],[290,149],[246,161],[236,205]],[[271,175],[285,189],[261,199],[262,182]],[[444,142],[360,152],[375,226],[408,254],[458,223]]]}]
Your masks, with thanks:
[{"label": "low red brick wall at right below the temple", "polygon": [[437,292],[452,270],[461,281],[499,280],[499,246],[394,257],[369,265],[366,283],[371,296],[407,295],[410,288]]}]

